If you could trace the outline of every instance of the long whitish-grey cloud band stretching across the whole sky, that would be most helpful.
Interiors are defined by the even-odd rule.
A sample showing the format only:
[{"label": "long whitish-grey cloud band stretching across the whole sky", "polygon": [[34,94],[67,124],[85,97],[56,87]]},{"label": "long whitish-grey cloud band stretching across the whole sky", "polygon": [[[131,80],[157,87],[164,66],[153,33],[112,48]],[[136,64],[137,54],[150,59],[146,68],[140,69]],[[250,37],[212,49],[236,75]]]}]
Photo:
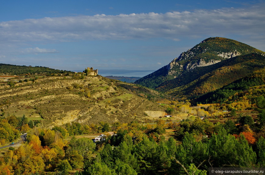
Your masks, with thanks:
[{"label": "long whitish-grey cloud band stretching across the whole sky", "polygon": [[66,16],[0,22],[0,42],[72,41],[225,36],[264,38],[264,5],[248,9],[196,10],[193,12]]}]

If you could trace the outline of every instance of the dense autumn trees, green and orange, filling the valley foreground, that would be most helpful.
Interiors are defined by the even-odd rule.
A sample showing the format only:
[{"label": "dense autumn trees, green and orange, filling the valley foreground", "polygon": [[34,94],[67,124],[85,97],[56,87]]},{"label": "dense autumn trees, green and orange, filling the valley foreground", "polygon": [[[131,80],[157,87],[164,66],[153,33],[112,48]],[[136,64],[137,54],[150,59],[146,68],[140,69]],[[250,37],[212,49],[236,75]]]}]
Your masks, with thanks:
[{"label": "dense autumn trees, green and orange, filling the valley foreground", "polygon": [[[190,118],[174,126],[160,119],[155,125],[68,123],[32,130],[26,143],[0,157],[0,174],[170,175],[186,174],[184,166],[191,174],[206,175],[208,167],[264,167],[264,114],[259,113],[259,124],[242,115],[223,124]],[[166,128],[175,129],[173,137],[166,139]],[[109,130],[116,134],[97,143],[73,136]],[[69,135],[73,137],[67,141]]]}]

